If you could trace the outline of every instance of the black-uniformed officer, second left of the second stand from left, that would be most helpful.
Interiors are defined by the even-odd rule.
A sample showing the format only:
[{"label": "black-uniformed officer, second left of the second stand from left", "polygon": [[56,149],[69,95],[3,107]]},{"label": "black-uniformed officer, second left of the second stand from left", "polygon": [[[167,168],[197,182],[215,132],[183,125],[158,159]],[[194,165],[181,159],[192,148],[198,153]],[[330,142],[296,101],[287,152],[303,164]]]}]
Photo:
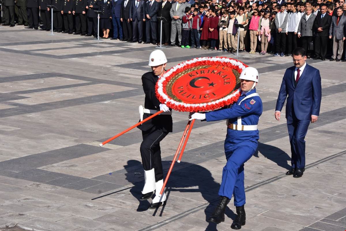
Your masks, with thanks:
[{"label": "black-uniformed officer, second left of the second stand from left", "polygon": [[75,0],[73,14],[76,19],[76,32],[74,35],[86,35],[86,0]]}]

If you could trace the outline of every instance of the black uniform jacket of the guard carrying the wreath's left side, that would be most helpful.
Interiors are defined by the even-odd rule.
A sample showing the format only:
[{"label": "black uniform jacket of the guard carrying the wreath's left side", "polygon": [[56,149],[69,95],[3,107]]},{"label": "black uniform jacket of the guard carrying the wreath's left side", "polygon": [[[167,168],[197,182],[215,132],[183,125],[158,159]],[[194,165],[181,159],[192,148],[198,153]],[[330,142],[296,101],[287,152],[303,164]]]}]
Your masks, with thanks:
[{"label": "black uniform jacket of the guard carrying the wreath's left side", "polygon": [[[147,72],[142,75],[143,90],[145,93],[144,108],[160,110],[160,101],[158,101],[155,94],[155,85],[158,80],[158,77],[154,75],[153,72]],[[152,114],[144,113],[143,119],[148,118]],[[144,122],[142,125],[139,125],[138,128],[142,131],[153,131],[155,129],[160,129],[164,132],[172,132],[173,121],[171,115],[157,115],[154,118],[150,119],[147,122]]]}]

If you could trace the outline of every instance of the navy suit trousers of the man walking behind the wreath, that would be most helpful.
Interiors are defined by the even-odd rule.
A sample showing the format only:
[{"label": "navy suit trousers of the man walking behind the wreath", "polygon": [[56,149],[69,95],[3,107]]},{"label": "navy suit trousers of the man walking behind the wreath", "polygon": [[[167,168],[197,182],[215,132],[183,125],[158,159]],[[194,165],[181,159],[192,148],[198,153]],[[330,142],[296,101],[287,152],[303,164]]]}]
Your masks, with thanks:
[{"label": "navy suit trousers of the man walking behind the wreath", "polygon": [[299,120],[295,117],[294,108],[287,116],[287,128],[291,144],[291,166],[292,168],[305,168],[305,136],[310,124],[309,119]]}]

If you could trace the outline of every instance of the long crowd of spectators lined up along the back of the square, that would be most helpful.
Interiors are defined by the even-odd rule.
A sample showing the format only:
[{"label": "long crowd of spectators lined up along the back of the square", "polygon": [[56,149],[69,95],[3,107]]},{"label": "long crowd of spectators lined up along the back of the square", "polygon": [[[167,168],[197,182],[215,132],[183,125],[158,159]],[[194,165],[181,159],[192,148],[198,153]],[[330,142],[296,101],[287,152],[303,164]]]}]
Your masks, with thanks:
[{"label": "long crowd of spectators lined up along the back of the square", "polygon": [[301,46],[308,58],[346,61],[345,0],[200,1],[0,0],[1,25],[50,30],[53,10],[55,32],[97,36],[100,14],[104,39],[274,56]]}]

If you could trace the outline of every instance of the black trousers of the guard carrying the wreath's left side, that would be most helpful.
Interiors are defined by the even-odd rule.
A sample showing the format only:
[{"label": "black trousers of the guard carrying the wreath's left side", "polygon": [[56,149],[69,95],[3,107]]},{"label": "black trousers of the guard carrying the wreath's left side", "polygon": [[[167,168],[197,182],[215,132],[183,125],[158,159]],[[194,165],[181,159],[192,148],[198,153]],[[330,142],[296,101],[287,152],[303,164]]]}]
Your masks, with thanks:
[{"label": "black trousers of the guard carrying the wreath's left side", "polygon": [[161,162],[160,142],[168,132],[163,132],[162,129],[151,131],[142,131],[143,142],[140,144],[140,156],[144,170],[155,169],[155,181],[163,179],[163,170]]}]

